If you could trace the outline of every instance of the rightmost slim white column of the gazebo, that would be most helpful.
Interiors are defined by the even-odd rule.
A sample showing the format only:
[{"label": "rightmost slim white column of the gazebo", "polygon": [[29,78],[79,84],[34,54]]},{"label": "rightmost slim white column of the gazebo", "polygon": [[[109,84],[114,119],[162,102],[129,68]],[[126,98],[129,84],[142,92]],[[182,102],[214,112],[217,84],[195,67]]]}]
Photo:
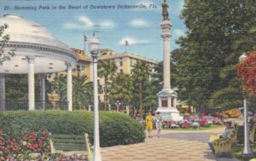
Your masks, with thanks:
[{"label": "rightmost slim white column of the gazebo", "polygon": [[67,101],[68,101],[68,111],[72,112],[72,66],[67,63]]}]

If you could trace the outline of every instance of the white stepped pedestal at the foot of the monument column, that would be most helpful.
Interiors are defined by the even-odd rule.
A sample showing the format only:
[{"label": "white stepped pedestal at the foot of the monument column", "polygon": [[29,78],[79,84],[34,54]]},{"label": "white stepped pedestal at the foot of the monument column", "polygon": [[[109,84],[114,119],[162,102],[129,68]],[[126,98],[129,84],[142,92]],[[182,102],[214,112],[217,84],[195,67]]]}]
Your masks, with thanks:
[{"label": "white stepped pedestal at the foot of the monument column", "polygon": [[176,108],[177,93],[173,89],[162,89],[158,94],[159,107],[156,112],[165,121],[181,121],[183,117],[179,115]]}]

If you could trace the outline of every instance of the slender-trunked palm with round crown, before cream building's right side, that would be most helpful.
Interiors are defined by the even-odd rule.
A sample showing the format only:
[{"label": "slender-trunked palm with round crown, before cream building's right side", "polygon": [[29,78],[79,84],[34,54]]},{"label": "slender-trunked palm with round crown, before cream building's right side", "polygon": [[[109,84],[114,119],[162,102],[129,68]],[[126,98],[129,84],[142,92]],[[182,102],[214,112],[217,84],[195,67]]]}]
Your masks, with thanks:
[{"label": "slender-trunked palm with round crown, before cream building's right side", "polygon": [[137,62],[134,68],[131,70],[132,78],[134,83],[138,84],[139,94],[139,111],[143,116],[143,85],[148,80],[150,74],[150,67],[144,62]]}]

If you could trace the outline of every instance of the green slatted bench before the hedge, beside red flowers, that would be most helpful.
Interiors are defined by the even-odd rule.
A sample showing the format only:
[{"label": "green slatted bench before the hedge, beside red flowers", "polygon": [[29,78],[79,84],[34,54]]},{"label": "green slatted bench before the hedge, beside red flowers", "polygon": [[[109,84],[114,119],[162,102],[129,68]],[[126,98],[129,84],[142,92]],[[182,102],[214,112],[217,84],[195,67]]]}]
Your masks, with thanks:
[{"label": "green slatted bench before the hedge, beside red flowers", "polygon": [[50,151],[85,151],[87,158],[92,159],[88,134],[84,135],[50,135]]}]

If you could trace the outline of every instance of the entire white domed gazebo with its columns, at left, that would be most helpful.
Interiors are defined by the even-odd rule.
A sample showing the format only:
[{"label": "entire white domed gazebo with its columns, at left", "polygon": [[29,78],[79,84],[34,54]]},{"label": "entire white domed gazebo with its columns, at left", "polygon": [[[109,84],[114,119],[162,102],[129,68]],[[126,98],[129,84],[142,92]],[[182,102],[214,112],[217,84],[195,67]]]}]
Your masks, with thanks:
[{"label": "entire white domed gazebo with its columns, at left", "polygon": [[10,37],[8,43],[1,44],[4,45],[4,54],[14,49],[15,56],[0,66],[0,102],[5,101],[5,74],[28,74],[28,110],[34,110],[34,74],[42,76],[41,101],[45,101],[45,73],[67,71],[68,111],[72,111],[72,69],[79,60],[78,56],[43,26],[21,15],[5,14],[0,19],[0,25],[3,24],[9,26],[3,34]]}]

